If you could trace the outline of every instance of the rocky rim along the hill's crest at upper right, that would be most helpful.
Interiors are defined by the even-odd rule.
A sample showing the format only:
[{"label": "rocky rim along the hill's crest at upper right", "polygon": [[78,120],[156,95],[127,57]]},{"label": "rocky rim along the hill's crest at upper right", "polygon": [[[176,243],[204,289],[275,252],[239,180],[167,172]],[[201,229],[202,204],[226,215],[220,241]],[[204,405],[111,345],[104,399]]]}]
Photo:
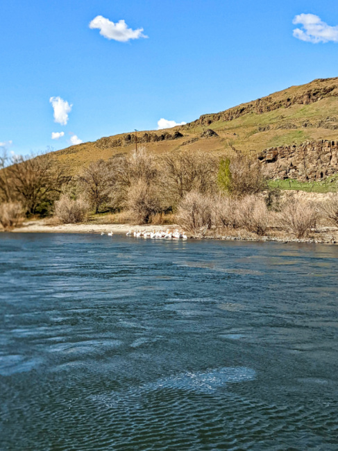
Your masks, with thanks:
[{"label": "rocky rim along the hill's crest at upper right", "polygon": [[186,130],[194,126],[209,126],[217,121],[233,121],[248,113],[262,114],[292,105],[308,105],[328,96],[338,96],[338,78],[320,78],[301,87],[291,87],[285,92],[276,92],[256,101],[242,103],[235,108],[214,114],[203,114],[194,122],[183,126]]}]

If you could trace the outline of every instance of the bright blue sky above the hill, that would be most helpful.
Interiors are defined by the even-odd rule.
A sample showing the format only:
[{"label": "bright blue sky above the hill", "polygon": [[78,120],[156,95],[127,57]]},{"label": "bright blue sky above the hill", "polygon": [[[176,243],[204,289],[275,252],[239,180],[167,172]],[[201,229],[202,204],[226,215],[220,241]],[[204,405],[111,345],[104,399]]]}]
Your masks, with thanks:
[{"label": "bright blue sky above the hill", "polygon": [[[103,35],[89,26],[97,16]],[[0,147],[15,153],[188,122],[338,76],[337,0],[3,0],[0,17]],[[54,121],[51,97],[72,105],[68,117]]]}]

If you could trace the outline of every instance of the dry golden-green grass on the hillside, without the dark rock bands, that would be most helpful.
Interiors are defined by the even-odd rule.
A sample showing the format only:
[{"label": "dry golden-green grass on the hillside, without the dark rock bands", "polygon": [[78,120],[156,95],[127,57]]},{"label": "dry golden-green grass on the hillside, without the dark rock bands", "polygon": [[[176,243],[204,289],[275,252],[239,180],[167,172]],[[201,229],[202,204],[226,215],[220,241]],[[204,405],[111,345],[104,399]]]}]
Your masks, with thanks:
[{"label": "dry golden-green grass on the hillside, without the dark rock bands", "polygon": [[[293,86],[271,94],[269,98],[278,103],[283,99],[292,99],[293,96],[301,96],[310,90],[316,92],[323,87],[338,85],[338,79],[314,80],[303,86]],[[283,144],[300,144],[306,139],[337,139],[338,126],[338,96],[337,87],[328,96],[319,97],[318,101],[310,104],[294,104],[287,108],[258,114],[250,112],[231,121],[213,121],[209,126],[201,125],[198,121],[187,126],[178,126],[175,129],[160,130],[161,133],[173,133],[179,130],[183,137],[160,142],[149,142],[146,144],[149,152],[160,155],[172,152],[178,148],[185,150],[200,150],[208,153],[224,153],[233,148],[250,153],[259,152],[271,146]],[[264,101],[264,99],[262,99]],[[245,104],[244,104],[245,105]],[[212,116],[212,115],[211,115]],[[207,128],[217,132],[216,137],[201,138],[201,134]],[[151,133],[160,133],[152,131]],[[142,136],[145,132],[140,132]],[[150,132],[147,132],[150,133]],[[126,135],[126,134],[125,134]],[[121,139],[125,135],[111,137]],[[74,173],[83,164],[87,165],[93,160],[108,160],[119,153],[131,153],[135,144],[127,146],[102,148],[99,142],[86,142],[71,146],[55,153],[56,157],[73,168]]]}]

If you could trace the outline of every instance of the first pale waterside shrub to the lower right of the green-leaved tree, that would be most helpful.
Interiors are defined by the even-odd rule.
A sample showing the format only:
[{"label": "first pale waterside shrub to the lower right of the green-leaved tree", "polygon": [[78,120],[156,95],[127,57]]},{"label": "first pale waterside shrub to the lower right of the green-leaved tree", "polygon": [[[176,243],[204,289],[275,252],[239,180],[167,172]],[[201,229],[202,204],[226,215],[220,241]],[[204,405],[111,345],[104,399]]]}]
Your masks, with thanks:
[{"label": "first pale waterside shrub to the lower right of the green-leaved tree", "polygon": [[269,212],[264,200],[257,196],[246,196],[238,201],[240,225],[248,232],[265,235],[269,226]]}]

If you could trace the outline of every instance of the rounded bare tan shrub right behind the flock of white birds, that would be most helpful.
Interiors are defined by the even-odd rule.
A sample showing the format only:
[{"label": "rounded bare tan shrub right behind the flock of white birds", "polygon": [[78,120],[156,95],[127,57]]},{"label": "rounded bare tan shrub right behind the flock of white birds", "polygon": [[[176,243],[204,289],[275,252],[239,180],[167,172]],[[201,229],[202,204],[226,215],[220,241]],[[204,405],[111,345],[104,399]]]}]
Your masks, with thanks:
[{"label": "rounded bare tan shrub right behind the flock of white birds", "polygon": [[128,189],[126,207],[133,221],[139,224],[149,223],[151,216],[161,210],[155,186],[149,185],[145,180],[138,180]]}]

